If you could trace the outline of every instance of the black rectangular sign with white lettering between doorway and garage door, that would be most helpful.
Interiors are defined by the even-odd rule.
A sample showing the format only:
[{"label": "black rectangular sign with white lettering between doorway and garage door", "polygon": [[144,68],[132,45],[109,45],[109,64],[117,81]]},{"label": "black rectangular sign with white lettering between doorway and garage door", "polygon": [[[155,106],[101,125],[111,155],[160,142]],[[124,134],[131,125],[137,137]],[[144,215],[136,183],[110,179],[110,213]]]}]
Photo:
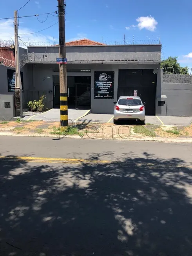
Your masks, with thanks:
[{"label": "black rectangular sign with white lettering between doorway and garage door", "polygon": [[94,99],[113,99],[114,71],[94,72]]}]

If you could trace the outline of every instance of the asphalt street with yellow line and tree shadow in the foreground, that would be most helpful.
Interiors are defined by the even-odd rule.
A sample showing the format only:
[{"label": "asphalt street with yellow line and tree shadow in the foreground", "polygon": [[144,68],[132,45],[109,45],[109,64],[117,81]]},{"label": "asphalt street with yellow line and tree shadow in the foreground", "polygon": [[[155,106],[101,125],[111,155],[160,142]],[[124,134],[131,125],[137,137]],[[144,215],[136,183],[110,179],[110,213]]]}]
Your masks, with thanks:
[{"label": "asphalt street with yellow line and tree shadow in the foreground", "polygon": [[191,256],[191,144],[0,139],[0,255]]}]

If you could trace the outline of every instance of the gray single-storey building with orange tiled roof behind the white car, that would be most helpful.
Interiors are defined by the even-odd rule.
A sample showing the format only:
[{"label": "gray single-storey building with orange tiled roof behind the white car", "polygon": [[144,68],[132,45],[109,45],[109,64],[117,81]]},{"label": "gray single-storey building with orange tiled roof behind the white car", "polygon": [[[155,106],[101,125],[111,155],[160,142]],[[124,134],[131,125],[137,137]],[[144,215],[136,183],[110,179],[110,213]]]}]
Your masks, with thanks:
[{"label": "gray single-storey building with orange tiled roof behind the white car", "polygon": [[[87,41],[66,47],[69,107],[111,114],[118,96],[135,92],[146,102],[147,114],[155,114],[161,44],[85,45],[93,42]],[[46,91],[53,107],[59,107],[58,46],[28,47],[27,51],[24,90]]]}]

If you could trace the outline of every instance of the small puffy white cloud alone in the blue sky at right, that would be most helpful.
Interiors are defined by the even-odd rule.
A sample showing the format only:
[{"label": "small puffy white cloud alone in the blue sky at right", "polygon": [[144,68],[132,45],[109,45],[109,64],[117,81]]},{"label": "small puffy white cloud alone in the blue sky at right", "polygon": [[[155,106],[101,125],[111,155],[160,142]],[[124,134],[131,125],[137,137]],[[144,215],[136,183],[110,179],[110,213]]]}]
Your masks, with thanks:
[{"label": "small puffy white cloud alone in the blue sky at right", "polygon": [[137,27],[139,30],[147,29],[149,31],[154,31],[158,25],[158,22],[152,16],[139,17],[136,19],[136,21],[138,22]]}]

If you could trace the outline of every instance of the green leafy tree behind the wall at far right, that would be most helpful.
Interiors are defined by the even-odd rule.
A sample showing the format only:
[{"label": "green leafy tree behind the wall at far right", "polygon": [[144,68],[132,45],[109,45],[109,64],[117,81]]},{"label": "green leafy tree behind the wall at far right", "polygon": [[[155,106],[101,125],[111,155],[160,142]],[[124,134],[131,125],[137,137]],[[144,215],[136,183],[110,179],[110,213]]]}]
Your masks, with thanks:
[{"label": "green leafy tree behind the wall at far right", "polygon": [[188,67],[181,67],[178,63],[178,57],[168,57],[161,62],[161,69],[164,74],[188,74]]}]

